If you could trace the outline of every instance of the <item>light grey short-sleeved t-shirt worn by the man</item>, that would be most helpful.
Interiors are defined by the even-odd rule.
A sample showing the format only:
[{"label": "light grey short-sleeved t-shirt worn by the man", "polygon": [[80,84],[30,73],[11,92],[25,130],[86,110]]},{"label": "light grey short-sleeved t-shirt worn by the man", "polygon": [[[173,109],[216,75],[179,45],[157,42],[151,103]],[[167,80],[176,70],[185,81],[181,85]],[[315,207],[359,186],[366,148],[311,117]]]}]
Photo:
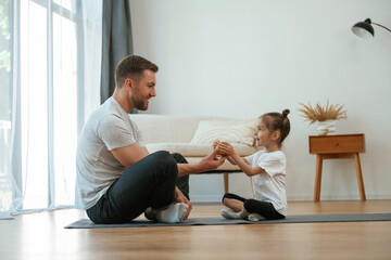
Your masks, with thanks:
[{"label": "light grey short-sleeved t-shirt worn by the man", "polygon": [[75,206],[89,209],[126,170],[110,152],[137,142],[143,145],[140,129],[111,96],[88,118],[76,153]]}]

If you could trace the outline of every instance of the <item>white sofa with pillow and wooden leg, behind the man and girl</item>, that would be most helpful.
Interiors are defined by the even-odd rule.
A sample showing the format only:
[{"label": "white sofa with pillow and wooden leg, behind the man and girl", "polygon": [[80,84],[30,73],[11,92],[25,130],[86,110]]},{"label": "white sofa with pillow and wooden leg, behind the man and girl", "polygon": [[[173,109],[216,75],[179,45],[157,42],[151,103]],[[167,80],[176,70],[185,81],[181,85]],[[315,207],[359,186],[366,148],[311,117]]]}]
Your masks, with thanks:
[{"label": "white sofa with pillow and wooden leg, behind the man and girl", "polygon": [[[130,114],[142,131],[150,153],[168,151],[181,154],[189,164],[197,164],[213,152],[213,140],[229,141],[240,156],[257,150],[254,146],[256,119],[231,119],[212,116],[173,116]],[[214,173],[224,173],[224,187],[228,192],[228,173],[240,172],[239,167],[226,160]]]}]

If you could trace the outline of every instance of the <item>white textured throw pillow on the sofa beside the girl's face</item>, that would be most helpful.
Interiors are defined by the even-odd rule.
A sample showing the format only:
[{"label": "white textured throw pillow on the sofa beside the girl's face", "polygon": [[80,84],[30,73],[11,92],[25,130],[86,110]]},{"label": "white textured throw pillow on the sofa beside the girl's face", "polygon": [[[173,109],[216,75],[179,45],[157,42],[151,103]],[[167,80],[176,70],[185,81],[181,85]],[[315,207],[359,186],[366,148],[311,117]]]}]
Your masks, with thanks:
[{"label": "white textured throw pillow on the sofa beside the girl's face", "polygon": [[229,143],[254,144],[256,119],[251,120],[202,120],[190,141],[192,144],[213,143],[216,140]]}]

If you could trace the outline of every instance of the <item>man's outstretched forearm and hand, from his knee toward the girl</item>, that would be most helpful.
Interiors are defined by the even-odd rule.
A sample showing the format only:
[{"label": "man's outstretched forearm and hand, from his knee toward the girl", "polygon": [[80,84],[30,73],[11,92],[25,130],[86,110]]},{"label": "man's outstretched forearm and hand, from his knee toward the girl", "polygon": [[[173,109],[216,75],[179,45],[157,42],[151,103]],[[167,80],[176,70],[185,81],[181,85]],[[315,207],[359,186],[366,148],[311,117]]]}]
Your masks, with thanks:
[{"label": "man's outstretched forearm and hand, from his knee toward the girl", "polygon": [[223,156],[222,158],[216,158],[217,153],[218,151],[214,150],[212,154],[203,158],[197,165],[178,164],[178,177],[216,169],[217,167],[223,165],[223,162],[227,158],[226,156]]}]

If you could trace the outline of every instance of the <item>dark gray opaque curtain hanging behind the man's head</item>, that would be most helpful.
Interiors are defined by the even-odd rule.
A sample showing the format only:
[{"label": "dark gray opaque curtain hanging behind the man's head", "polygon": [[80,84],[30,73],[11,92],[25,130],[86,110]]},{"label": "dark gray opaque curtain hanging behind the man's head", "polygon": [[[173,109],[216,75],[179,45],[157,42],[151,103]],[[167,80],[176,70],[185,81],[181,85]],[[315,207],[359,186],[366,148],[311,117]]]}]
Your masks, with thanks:
[{"label": "dark gray opaque curtain hanging behind the man's head", "polygon": [[101,103],[114,92],[116,64],[133,54],[129,0],[103,0],[102,23]]}]

